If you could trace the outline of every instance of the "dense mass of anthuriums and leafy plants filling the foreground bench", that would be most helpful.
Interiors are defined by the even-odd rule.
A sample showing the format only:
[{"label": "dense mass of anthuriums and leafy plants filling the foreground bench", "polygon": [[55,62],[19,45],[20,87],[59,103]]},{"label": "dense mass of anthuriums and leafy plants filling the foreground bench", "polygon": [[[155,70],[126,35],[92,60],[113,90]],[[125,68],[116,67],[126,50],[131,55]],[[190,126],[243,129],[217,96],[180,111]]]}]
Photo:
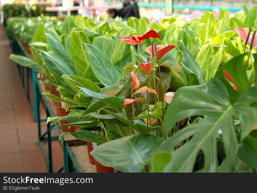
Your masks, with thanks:
[{"label": "dense mass of anthuriums and leafy plants filling the foreground bench", "polygon": [[67,16],[30,45],[69,112],[48,122],[79,126],[64,134],[121,172],[256,171],[256,9],[165,18],[158,32],[144,17]]}]

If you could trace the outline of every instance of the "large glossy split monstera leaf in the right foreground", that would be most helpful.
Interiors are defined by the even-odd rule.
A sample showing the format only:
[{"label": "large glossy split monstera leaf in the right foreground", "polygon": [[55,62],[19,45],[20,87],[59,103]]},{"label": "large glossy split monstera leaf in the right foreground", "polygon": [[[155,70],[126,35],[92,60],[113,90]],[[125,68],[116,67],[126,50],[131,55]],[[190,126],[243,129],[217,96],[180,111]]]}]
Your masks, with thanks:
[{"label": "large glossy split monstera leaf in the right foreground", "polygon": [[192,172],[200,150],[205,156],[205,171],[216,172],[216,136],[220,129],[228,166],[232,171],[238,151],[234,119],[238,117],[241,122],[242,141],[257,123],[257,108],[252,106],[257,102],[256,93],[257,86],[251,87],[232,105],[225,85],[215,78],[206,84],[178,89],[165,114],[164,136],[182,119],[190,116],[204,118],[197,124],[181,129],[160,147],[160,151],[171,152],[181,141],[192,137],[172,153],[172,160],[165,166],[164,172]]}]

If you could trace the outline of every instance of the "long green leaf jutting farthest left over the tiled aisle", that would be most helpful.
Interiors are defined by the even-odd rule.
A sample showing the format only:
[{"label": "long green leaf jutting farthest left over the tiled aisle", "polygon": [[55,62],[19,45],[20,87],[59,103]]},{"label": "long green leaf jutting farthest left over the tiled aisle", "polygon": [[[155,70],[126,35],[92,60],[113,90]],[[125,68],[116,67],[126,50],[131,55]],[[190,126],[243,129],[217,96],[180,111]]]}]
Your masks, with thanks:
[{"label": "long green leaf jutting farthest left over the tiled aisle", "polygon": [[9,56],[9,59],[13,60],[19,65],[29,67],[37,72],[42,72],[41,67],[37,62],[34,62],[33,60],[30,60],[29,58],[26,58],[24,56],[11,54]]}]

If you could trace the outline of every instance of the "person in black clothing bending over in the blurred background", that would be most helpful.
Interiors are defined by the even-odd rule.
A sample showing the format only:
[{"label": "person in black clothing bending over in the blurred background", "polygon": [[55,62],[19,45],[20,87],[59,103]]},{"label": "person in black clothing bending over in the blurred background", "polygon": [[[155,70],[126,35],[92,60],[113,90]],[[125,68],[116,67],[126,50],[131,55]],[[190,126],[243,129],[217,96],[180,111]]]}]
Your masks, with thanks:
[{"label": "person in black clothing bending over in the blurred background", "polygon": [[122,9],[108,9],[107,13],[109,17],[116,18],[117,16],[121,18],[136,17],[140,18],[138,5],[135,0],[125,0],[123,1]]}]

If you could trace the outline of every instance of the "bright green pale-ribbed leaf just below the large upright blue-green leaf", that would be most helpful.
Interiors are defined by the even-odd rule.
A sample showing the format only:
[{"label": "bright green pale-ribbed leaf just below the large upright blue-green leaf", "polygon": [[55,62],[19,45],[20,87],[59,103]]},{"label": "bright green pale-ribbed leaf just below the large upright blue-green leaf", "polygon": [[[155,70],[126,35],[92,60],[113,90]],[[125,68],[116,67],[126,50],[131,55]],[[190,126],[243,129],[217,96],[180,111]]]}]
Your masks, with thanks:
[{"label": "bright green pale-ribbed leaf just below the large upright blue-green leaf", "polygon": [[72,88],[76,92],[79,92],[80,90],[80,88],[78,87],[84,87],[96,93],[101,91],[100,87],[93,81],[84,79],[80,76],[67,76],[63,74],[62,79],[67,83],[68,86],[70,86],[70,88]]}]

